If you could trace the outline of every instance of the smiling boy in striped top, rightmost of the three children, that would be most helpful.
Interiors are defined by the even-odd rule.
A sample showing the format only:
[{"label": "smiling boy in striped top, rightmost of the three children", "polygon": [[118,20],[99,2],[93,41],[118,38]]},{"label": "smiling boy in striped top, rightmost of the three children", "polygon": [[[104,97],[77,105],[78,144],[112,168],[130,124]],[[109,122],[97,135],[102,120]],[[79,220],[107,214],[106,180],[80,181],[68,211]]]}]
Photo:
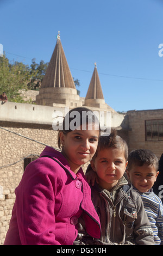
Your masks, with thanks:
[{"label": "smiling boy in striped top, rightmost of the three children", "polygon": [[142,197],[155,245],[163,245],[163,206],[152,189],[159,174],[158,164],[158,158],[151,150],[137,149],[129,154],[126,172],[131,184]]}]

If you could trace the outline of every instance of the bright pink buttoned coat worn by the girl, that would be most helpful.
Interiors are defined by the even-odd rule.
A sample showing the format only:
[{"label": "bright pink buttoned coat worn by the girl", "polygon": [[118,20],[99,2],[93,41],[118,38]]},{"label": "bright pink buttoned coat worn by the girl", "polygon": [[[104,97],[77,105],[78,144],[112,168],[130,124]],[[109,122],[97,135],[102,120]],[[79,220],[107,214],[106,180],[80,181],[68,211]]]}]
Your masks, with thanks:
[{"label": "bright pink buttoned coat worn by the girl", "polygon": [[101,236],[82,168],[74,174],[65,157],[53,148],[46,147],[39,159],[28,164],[15,194],[4,245],[72,245],[82,213],[87,233]]}]

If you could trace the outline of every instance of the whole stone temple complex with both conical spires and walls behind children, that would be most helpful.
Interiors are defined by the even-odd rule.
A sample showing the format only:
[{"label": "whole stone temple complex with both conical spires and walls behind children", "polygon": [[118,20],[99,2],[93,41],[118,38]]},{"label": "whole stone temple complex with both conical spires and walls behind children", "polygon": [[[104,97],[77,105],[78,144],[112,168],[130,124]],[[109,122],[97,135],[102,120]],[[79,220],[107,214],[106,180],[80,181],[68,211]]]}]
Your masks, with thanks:
[{"label": "whole stone temple complex with both conical spires and walls behind children", "polygon": [[158,157],[162,154],[163,109],[117,113],[105,103],[96,65],[85,100],[81,99],[58,35],[35,103],[0,104],[0,245],[9,227],[15,201],[14,190],[24,168],[39,157],[46,145],[58,149],[58,132],[52,126],[55,114],[60,112],[64,116],[65,107],[76,106],[109,112],[110,126],[116,127],[118,134],[126,139],[129,151],[147,148]]}]

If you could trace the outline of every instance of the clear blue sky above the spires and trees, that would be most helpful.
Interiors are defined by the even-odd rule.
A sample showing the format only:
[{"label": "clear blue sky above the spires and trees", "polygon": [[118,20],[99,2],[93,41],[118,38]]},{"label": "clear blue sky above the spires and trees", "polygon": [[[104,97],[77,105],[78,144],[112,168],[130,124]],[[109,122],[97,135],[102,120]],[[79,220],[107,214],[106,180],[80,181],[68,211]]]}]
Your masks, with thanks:
[{"label": "clear blue sky above the spires and trees", "polygon": [[116,111],[163,108],[162,0],[0,0],[0,24],[10,62],[49,62],[60,31],[80,96],[96,62]]}]

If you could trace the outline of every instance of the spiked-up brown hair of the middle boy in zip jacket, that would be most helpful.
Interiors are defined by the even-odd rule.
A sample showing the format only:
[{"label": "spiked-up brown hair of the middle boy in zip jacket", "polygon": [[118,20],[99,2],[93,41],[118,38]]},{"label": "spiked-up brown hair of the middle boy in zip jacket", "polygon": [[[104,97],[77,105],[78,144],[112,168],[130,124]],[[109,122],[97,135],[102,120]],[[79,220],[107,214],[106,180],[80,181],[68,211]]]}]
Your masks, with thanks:
[{"label": "spiked-up brown hair of the middle boy in zip jacket", "polygon": [[92,157],[94,161],[97,157],[98,151],[102,149],[116,148],[124,150],[124,157],[128,159],[128,145],[124,139],[117,135],[116,129],[111,129],[109,136],[100,136],[98,140],[98,146],[95,155]]}]

